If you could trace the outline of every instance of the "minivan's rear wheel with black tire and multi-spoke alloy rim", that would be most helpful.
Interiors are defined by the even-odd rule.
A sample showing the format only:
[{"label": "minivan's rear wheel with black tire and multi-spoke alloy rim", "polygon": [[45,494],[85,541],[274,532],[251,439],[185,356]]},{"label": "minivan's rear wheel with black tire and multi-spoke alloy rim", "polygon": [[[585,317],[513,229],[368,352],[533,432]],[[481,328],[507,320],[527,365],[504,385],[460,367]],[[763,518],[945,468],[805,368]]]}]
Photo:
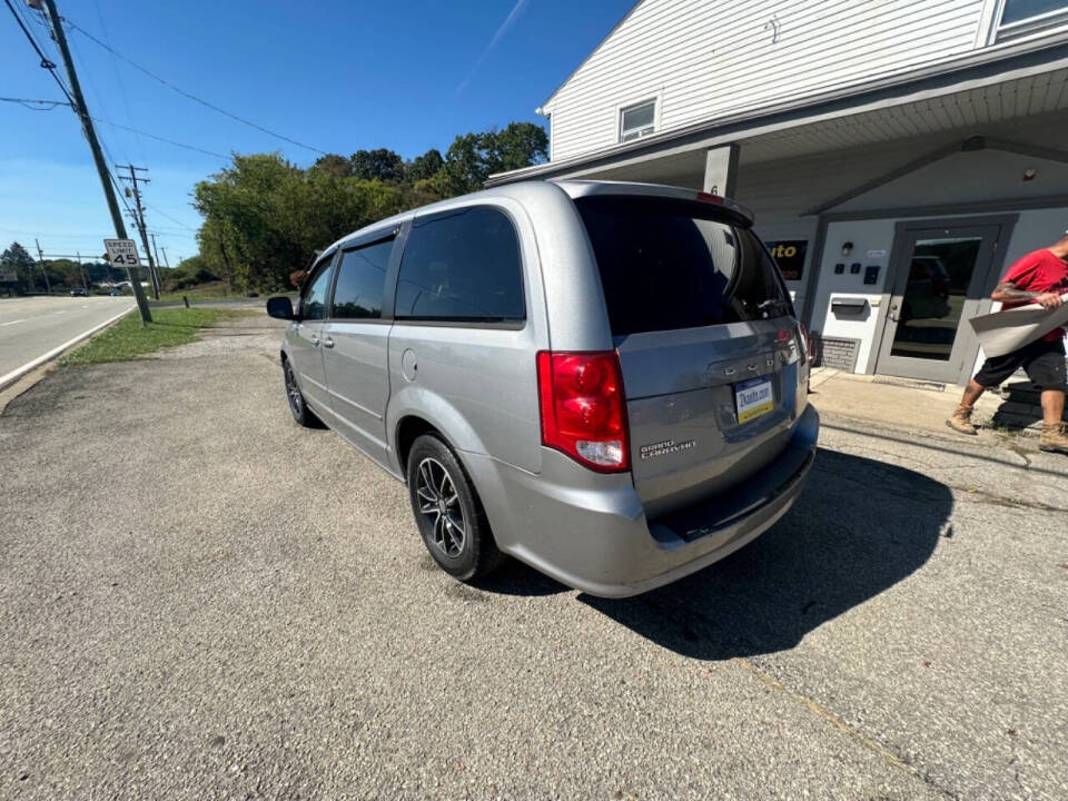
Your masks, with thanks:
[{"label": "minivan's rear wheel with black tire and multi-spoke alloy rim", "polygon": [[439,437],[424,434],[408,453],[408,497],[423,544],[461,581],[493,571],[503,556],[471,478]]}]

